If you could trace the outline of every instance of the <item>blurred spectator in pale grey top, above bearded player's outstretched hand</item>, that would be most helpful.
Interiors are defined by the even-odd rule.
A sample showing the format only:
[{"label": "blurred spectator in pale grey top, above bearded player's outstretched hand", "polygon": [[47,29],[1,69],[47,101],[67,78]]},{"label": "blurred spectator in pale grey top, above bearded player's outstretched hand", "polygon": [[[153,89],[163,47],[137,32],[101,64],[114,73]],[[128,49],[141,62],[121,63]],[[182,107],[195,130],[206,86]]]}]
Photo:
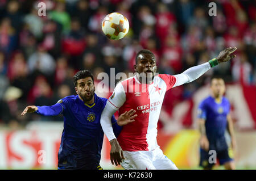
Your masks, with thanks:
[{"label": "blurred spectator in pale grey top, above bearded player's outstretched hand", "polygon": [[38,45],[36,52],[28,57],[28,69],[30,73],[39,70],[43,74],[51,75],[55,71],[55,66],[53,57],[46,52],[43,45]]}]

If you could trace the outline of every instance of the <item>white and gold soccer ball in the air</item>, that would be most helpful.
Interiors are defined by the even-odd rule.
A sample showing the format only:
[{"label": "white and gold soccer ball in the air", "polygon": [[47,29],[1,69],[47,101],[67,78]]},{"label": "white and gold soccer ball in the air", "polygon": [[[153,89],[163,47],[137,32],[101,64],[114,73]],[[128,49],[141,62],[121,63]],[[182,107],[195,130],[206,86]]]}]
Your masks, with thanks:
[{"label": "white and gold soccer ball in the air", "polygon": [[101,24],[104,34],[112,40],[122,39],[129,30],[129,22],[125,16],[112,12],[104,18]]}]

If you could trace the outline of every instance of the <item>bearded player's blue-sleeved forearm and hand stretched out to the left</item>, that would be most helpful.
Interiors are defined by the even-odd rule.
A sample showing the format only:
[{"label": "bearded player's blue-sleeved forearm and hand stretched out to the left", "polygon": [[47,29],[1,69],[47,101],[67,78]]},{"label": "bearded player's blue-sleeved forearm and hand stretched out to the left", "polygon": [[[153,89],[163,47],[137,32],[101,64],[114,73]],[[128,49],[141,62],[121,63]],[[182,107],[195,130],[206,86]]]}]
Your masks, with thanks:
[{"label": "bearded player's blue-sleeved forearm and hand stretched out to the left", "polygon": [[44,116],[57,116],[64,110],[64,105],[59,103],[54,104],[53,106],[27,106],[21,115],[25,115],[26,113],[39,113],[40,115]]}]

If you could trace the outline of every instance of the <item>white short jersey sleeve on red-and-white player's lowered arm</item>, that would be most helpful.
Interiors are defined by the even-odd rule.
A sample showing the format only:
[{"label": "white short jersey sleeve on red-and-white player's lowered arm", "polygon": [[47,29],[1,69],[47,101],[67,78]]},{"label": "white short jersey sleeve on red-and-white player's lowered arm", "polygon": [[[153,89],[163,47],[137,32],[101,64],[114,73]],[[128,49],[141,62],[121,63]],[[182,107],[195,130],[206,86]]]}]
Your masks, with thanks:
[{"label": "white short jersey sleeve on red-and-white player's lowered arm", "polygon": [[117,86],[115,86],[113,94],[108,99],[107,104],[109,104],[110,107],[117,111],[121,106],[123,106],[125,100],[125,90],[123,89],[122,83],[118,83]]}]

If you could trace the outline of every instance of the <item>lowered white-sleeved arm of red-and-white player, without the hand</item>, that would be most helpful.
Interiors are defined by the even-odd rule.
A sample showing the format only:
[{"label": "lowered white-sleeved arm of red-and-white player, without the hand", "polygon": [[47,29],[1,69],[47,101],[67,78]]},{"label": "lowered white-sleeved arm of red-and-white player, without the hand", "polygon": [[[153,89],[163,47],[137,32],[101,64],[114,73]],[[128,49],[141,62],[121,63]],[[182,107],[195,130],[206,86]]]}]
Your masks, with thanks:
[{"label": "lowered white-sleeved arm of red-and-white player, without the hand", "polygon": [[112,107],[110,107],[107,103],[104,110],[101,113],[101,127],[104,133],[106,134],[106,137],[108,137],[109,141],[115,139],[115,134],[111,122],[111,118],[114,112],[115,110],[113,110]]}]

